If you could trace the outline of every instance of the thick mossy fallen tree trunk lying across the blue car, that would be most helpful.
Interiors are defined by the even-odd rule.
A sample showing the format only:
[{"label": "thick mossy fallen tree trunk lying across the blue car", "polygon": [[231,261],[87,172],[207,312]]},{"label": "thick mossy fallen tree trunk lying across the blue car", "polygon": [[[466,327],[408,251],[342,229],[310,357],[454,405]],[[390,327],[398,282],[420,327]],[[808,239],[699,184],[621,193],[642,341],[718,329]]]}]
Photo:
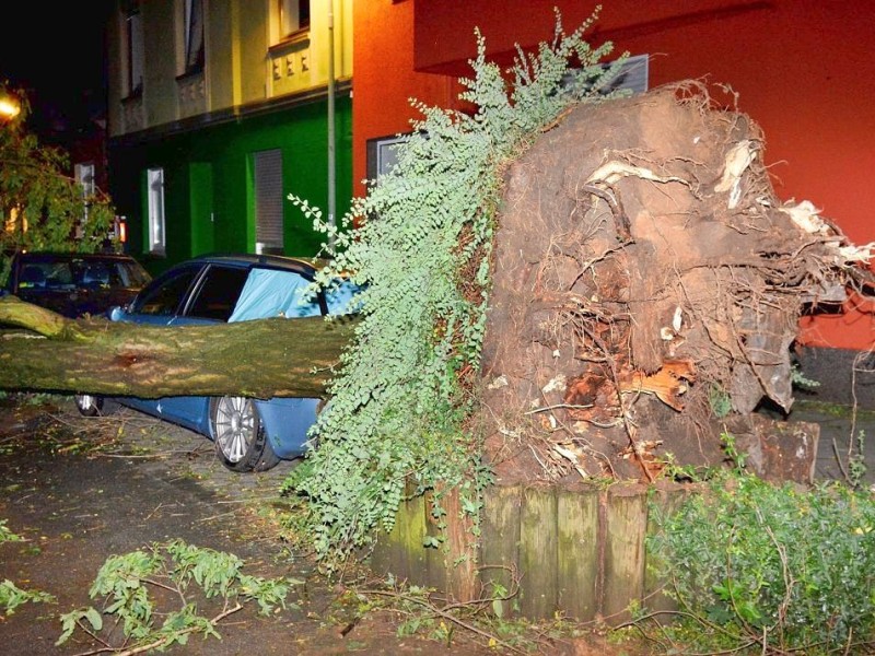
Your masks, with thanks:
[{"label": "thick mossy fallen tree trunk lying across the blue car", "polygon": [[68,319],[0,298],[0,388],[104,396],[324,397],[354,319],[176,326]]}]

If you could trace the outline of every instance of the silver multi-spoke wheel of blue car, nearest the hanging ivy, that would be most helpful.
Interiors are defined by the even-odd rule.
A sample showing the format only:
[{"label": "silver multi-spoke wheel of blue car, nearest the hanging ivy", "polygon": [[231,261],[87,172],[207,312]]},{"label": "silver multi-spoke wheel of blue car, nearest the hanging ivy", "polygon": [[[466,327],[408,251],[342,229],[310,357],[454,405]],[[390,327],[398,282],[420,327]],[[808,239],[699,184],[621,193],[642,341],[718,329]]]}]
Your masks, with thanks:
[{"label": "silver multi-spoke wheel of blue car, nearest the hanging ivy", "polygon": [[252,399],[212,399],[210,430],[217,456],[232,471],[265,471],[280,461],[267,440],[258,409]]}]

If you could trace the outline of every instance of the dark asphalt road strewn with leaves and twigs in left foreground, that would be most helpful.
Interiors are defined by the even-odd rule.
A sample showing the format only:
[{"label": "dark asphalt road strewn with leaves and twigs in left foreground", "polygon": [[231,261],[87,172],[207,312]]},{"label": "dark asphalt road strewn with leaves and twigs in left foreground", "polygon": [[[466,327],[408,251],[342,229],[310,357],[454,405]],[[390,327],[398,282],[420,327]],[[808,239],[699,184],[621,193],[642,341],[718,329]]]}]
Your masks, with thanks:
[{"label": "dark asphalt road strewn with leaves and twigs in left foreground", "polygon": [[[0,400],[0,519],[25,539],[0,543],[0,582],[57,599],[24,604],[5,616],[0,607],[0,653],[102,649],[84,632],[55,646],[59,616],[100,605],[89,589],[109,555],[174,538],[234,553],[247,574],[295,583],[285,610],[264,617],[245,606],[219,624],[221,641],[196,636],[171,653],[495,653],[463,635],[451,647],[424,636],[398,637],[397,614],[362,612],[343,583],[326,581],[306,554],[290,551],[279,539],[273,509],[293,466],[238,475],[215,460],[208,440],[132,410],[90,420],[78,415],[72,401],[54,407]],[[202,604],[205,614],[214,610],[209,600]],[[119,646],[117,632],[114,639]]]}]

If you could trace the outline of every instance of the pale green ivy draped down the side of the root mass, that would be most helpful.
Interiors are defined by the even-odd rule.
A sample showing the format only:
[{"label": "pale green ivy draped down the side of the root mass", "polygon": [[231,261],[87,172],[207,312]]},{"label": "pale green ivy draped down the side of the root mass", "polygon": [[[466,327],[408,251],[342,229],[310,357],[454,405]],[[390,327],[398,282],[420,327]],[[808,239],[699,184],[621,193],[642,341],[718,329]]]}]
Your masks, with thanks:
[{"label": "pale green ivy draped down the side of the root mass", "polygon": [[[467,429],[476,403],[502,174],[545,126],[579,102],[610,97],[626,56],[583,38],[600,8],[568,34],[556,12],[550,43],[517,47],[502,71],[478,31],[474,74],[459,80],[465,113],[411,101],[421,118],[396,147],[397,164],[370,180],[340,225],[290,196],[327,236],[332,266],[364,285],[362,321],[314,433],[318,448],[285,481],[308,501],[307,526],[323,563],[342,561],[388,530],[408,482],[415,493],[471,484],[480,440]],[[505,75],[506,73],[506,75]],[[354,230],[351,230],[354,226]],[[467,481],[466,481],[467,479]],[[468,507],[476,511],[477,500]]]}]

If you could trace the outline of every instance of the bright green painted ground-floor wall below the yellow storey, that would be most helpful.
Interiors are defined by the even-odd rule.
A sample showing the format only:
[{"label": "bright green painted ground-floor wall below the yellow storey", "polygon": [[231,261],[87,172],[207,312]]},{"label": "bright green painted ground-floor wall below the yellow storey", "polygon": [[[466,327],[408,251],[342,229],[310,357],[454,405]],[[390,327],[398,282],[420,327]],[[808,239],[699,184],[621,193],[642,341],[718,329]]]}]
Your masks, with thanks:
[{"label": "bright green painted ground-floor wall below the yellow storey", "polygon": [[[205,253],[257,253],[256,160],[279,156],[282,245],[271,253],[311,257],[324,235],[288,199],[294,194],[328,213],[327,103],[312,102],[137,143],[110,143],[110,194],[127,223],[126,250],[153,273]],[[335,110],[336,215],[352,189],[351,108]],[[163,172],[165,250],[149,248],[149,172]],[[267,251],[267,249],[266,249]]]}]

